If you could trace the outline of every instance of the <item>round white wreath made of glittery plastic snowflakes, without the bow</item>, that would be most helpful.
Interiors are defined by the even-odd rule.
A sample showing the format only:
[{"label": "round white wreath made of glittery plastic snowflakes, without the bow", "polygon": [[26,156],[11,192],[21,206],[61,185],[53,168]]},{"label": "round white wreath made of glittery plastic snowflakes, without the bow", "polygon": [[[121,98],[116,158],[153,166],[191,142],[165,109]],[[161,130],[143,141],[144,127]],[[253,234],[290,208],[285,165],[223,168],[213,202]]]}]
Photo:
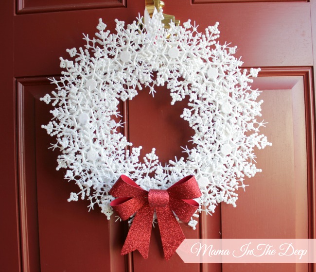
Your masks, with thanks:
[{"label": "round white wreath made of glittery plastic snowflakes, without the bow", "polygon": [[[87,196],[89,207],[98,204],[107,219],[114,199],[108,191],[122,174],[145,190],[167,189],[193,174],[202,192],[198,212],[213,213],[220,202],[236,206],[236,189],[245,188],[244,177],[261,172],[254,164],[254,148],[271,145],[258,134],[264,126],[256,120],[260,92],[248,85],[260,69],[239,68],[243,62],[232,55],[236,47],[216,42],[218,23],[203,34],[190,20],[165,29],[161,12],[155,16],[146,24],[137,17],[126,28],[115,20],[117,34],[105,31],[99,19],[96,37],[84,35],[85,49],[67,50],[74,61],[60,58],[65,71],[52,79],[56,91],[41,99],[55,107],[52,121],[42,127],[57,138],[52,144],[61,150],[57,170],[67,169],[65,178],[80,188],[68,201]],[[154,96],[159,85],[170,90],[171,104],[189,96],[180,117],[194,130],[194,147],[183,148],[187,158],[165,166],[155,148],[140,162],[141,146],[131,147],[118,132],[123,123],[114,118],[120,116],[120,100],[133,99],[143,87]],[[195,229],[196,223],[192,219],[189,225]]]}]

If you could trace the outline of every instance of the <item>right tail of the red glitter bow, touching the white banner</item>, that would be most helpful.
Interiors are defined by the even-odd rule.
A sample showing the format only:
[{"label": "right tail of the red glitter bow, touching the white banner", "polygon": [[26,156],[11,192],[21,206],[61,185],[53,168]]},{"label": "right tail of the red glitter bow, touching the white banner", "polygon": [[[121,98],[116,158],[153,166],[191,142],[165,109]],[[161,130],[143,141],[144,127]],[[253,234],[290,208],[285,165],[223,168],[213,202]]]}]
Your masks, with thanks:
[{"label": "right tail of the red glitter bow, touching the white banner", "polygon": [[156,214],[165,259],[169,260],[185,239],[183,231],[169,205],[157,207]]}]

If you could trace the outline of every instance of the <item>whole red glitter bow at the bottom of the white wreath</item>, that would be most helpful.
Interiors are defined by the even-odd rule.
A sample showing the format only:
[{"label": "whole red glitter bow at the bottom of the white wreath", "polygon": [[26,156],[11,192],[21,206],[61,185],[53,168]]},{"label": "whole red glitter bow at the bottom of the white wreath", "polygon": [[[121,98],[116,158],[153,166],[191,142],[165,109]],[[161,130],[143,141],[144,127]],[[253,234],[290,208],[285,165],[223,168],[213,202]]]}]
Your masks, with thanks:
[{"label": "whole red glitter bow at the bottom of the white wreath", "polygon": [[137,249],[145,259],[148,257],[152,221],[156,210],[166,260],[174,255],[185,239],[172,211],[181,221],[188,222],[199,206],[193,198],[201,196],[193,175],[184,177],[167,190],[150,189],[149,192],[140,188],[129,177],[121,175],[109,193],[118,197],[111,202],[111,206],[123,220],[137,212],[121,254]]}]

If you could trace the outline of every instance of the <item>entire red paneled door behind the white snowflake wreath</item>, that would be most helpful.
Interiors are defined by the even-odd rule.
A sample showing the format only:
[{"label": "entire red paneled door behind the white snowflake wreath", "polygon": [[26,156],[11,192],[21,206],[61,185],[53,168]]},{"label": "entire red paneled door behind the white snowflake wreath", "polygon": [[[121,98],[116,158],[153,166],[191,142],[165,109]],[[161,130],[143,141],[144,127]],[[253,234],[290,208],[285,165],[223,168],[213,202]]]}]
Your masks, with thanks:
[{"label": "entire red paneled door behind the white snowflake wreath", "polygon": [[[165,2],[166,13],[195,20],[200,31],[219,21],[220,41],[238,46],[244,67],[262,68],[253,86],[263,91],[262,132],[273,143],[257,151],[263,172],[246,182],[237,207],[219,205],[213,216],[200,217],[196,231],[182,224],[186,237],[316,238],[316,1]],[[121,256],[126,225],[107,221],[98,209],[88,213],[87,201],[67,202],[76,186],[55,170],[58,152],[48,150],[52,138],[40,128],[50,107],[39,98],[54,88],[48,78],[60,74],[59,57],[84,46],[82,33],[92,36],[98,18],[113,31],[115,18],[130,23],[144,6],[144,0],[1,2],[0,271],[315,271],[313,264],[185,264],[177,255],[166,262],[157,228],[148,259]],[[183,104],[169,105],[162,90],[155,99],[140,93],[121,109],[130,141],[144,152],[156,147],[162,162],[180,155],[192,133],[179,118]],[[158,129],[166,133],[157,136]]]}]

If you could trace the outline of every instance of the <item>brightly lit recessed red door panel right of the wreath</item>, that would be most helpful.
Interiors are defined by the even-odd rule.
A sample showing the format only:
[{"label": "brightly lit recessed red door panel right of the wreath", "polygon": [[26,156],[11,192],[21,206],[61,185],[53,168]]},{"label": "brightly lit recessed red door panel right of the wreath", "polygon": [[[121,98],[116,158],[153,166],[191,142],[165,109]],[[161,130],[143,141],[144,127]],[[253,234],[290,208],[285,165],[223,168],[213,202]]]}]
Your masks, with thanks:
[{"label": "brightly lit recessed red door panel right of the wreath", "polygon": [[[261,132],[269,137],[273,146],[256,153],[257,167],[263,171],[249,181],[245,193],[240,192],[237,207],[222,205],[222,238],[309,237],[305,136],[305,114],[309,113],[304,107],[305,97],[311,91],[304,84],[309,69],[297,71],[300,76],[265,77],[267,72],[263,71],[263,77],[253,86],[263,91],[262,114],[268,124]],[[308,271],[308,264],[223,264],[223,271],[232,269],[236,272],[245,269]]]}]

